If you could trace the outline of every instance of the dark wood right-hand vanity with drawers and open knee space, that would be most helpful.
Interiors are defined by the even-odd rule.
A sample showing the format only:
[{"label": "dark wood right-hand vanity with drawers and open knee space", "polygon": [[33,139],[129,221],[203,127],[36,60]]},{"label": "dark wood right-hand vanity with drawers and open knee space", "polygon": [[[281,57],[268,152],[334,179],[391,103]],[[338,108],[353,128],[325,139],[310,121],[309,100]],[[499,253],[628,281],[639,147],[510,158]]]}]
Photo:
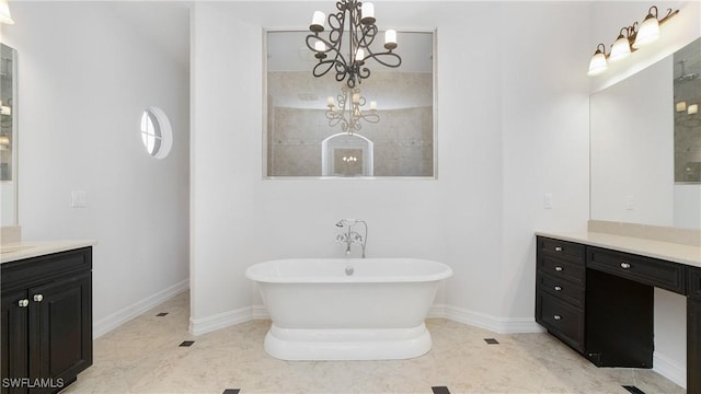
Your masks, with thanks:
[{"label": "dark wood right-hand vanity with drawers and open knee space", "polygon": [[652,368],[654,288],[687,296],[687,392],[701,393],[701,268],[537,236],[536,321],[598,367]]}]

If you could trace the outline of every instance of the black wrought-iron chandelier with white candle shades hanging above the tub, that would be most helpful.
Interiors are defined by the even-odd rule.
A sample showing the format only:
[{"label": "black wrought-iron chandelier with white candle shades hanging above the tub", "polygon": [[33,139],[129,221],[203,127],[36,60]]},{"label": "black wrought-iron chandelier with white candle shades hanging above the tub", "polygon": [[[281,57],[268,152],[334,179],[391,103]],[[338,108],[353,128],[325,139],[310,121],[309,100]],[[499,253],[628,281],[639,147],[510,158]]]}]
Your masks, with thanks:
[{"label": "black wrought-iron chandelier with white candle shades hanging above the tub", "polygon": [[[307,36],[307,47],[314,51],[319,59],[312,70],[314,77],[325,76],[329,71],[335,72],[336,81],[346,80],[348,88],[354,89],[356,83],[370,77],[370,70],[365,66],[366,60],[375,59],[382,66],[397,68],[402,63],[402,58],[392,53],[397,48],[397,31],[384,32],[383,53],[372,53],[370,46],[378,35],[375,25],[375,5],[371,2],[357,0],[336,1],[338,12],[329,15],[329,37],[323,38],[325,15],[315,11],[309,30],[312,34]],[[347,24],[347,30],[346,30]],[[344,44],[347,51],[343,53]]]}]

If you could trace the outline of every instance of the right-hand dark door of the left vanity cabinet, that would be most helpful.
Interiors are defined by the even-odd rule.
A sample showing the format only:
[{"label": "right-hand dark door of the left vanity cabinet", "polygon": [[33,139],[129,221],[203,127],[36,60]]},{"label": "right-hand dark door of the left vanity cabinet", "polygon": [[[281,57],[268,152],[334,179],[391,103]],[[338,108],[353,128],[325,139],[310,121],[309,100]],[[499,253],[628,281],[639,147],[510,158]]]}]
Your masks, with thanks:
[{"label": "right-hand dark door of the left vanity cabinet", "polygon": [[30,374],[53,385],[36,393],[56,391],[92,364],[91,285],[85,273],[30,289]]}]

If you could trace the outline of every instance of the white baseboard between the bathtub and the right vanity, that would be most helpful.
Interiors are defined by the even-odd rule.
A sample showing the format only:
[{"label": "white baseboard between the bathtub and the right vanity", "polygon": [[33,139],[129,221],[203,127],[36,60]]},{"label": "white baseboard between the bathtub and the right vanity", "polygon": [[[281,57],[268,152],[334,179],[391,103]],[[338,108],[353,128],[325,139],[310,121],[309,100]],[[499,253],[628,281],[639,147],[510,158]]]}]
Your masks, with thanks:
[{"label": "white baseboard between the bathtub and the right vanity", "polygon": [[544,333],[533,317],[498,317],[451,305],[434,305],[428,317],[443,317],[497,334]]}]

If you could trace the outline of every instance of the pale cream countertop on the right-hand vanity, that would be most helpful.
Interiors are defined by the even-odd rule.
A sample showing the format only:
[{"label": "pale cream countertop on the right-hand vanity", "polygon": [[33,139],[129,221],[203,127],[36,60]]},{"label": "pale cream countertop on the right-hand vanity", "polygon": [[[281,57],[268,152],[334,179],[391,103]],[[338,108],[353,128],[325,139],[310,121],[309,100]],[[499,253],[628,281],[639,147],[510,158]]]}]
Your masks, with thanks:
[{"label": "pale cream countertop on the right-hand vanity", "polygon": [[537,235],[659,258],[701,268],[701,247],[596,232],[547,232]]}]

